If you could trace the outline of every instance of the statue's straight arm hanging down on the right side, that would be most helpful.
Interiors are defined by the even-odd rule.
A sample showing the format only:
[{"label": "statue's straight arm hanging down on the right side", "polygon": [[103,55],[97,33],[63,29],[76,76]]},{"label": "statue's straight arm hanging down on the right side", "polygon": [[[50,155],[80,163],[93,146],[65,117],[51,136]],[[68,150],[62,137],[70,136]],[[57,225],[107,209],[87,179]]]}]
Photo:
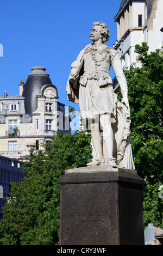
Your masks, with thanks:
[{"label": "statue's straight arm hanging down on the right side", "polygon": [[115,50],[112,50],[111,66],[115,72],[118,84],[120,85],[120,88],[121,88],[122,97],[123,97],[121,102],[124,103],[126,107],[129,107],[127,80],[126,80],[126,76],[123,73],[120,56],[118,52]]}]

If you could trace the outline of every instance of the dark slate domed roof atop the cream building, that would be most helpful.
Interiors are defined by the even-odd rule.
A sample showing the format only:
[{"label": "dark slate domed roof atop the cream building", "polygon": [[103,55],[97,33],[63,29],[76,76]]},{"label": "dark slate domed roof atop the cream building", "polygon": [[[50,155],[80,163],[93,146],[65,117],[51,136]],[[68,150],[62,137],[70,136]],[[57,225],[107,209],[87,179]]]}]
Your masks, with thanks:
[{"label": "dark slate domed roof atop the cream building", "polygon": [[42,66],[34,66],[32,72],[28,75],[28,79],[23,89],[22,96],[24,99],[24,107],[26,114],[32,115],[37,109],[37,98],[40,89],[46,84],[52,84],[49,75],[45,72],[46,68]]}]

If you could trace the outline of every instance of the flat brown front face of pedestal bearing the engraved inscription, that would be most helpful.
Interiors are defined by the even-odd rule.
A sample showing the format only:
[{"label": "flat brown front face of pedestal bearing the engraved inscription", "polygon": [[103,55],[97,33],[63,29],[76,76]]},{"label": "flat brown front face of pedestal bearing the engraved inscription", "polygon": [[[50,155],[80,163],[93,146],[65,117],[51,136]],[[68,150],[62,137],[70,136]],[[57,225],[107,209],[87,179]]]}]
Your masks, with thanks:
[{"label": "flat brown front face of pedestal bearing the engraved inscription", "polygon": [[[115,193],[110,193],[110,190]],[[106,244],[110,241],[111,244],[111,233],[114,237],[117,236],[116,191],[116,184],[113,183],[109,186],[106,183],[64,185],[61,200],[64,198],[63,207],[66,211],[61,206],[60,232],[65,237],[61,243],[70,245],[73,241],[74,244],[75,233],[80,241],[76,244],[87,244],[90,237],[91,244],[99,245],[99,237],[103,237],[103,242],[100,243]]]}]

